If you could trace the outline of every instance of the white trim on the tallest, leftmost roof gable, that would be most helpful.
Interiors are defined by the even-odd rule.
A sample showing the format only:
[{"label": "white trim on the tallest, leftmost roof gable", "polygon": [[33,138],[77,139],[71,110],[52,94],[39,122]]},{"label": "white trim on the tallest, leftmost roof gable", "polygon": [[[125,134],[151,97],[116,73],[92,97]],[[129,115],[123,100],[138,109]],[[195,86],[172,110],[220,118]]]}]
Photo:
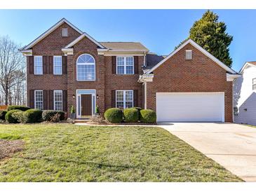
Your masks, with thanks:
[{"label": "white trim on the tallest, leftmost roof gable", "polygon": [[60,25],[62,25],[62,23],[66,22],[67,25],[69,25],[70,27],[72,27],[73,29],[76,30],[76,32],[79,32],[79,34],[83,34],[83,32],[78,29],[77,27],[75,27],[71,22],[69,22],[68,20],[66,20],[65,18],[62,18],[62,20],[60,20],[59,22],[57,22],[55,25],[53,25],[53,27],[50,27],[50,29],[48,29],[46,32],[44,32],[43,34],[41,34],[41,36],[39,36],[38,38],[36,38],[34,41],[32,41],[31,43],[29,43],[27,46],[25,46],[25,48],[22,48],[22,50],[27,50],[29,48],[31,48],[32,46],[34,46],[36,43],[38,43],[39,41],[41,41],[43,38],[45,38],[46,36],[48,36],[48,34],[50,34],[51,32],[53,32],[55,29],[57,29],[58,27],[60,27]]}]

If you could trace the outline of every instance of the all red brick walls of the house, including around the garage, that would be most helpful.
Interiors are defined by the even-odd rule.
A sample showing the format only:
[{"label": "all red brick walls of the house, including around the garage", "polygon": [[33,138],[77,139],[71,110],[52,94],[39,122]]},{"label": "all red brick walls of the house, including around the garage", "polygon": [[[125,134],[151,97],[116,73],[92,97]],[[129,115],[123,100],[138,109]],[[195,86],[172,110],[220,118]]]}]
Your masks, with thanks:
[{"label": "all red brick walls of the house, including around the garage", "polygon": [[[68,28],[68,37],[62,37],[62,28]],[[64,55],[62,48],[81,34],[62,24],[51,34],[32,47],[33,55]],[[76,107],[76,90],[96,90],[96,105],[100,112],[113,107],[112,90],[137,90],[137,107],[144,107],[144,86],[138,83],[143,74],[141,64],[144,57],[138,56],[138,74],[119,75],[112,73],[112,56],[99,55],[98,46],[84,37],[73,46],[73,55],[67,56],[67,74],[34,75],[27,73],[27,100],[32,100],[30,90],[67,91],[67,111]],[[185,60],[185,50],[193,50],[192,60]],[[95,81],[76,81],[76,60],[79,55],[88,53],[95,59]],[[28,61],[28,60],[27,60]],[[27,62],[29,71],[29,62]],[[201,51],[187,44],[173,57],[154,70],[153,82],[147,82],[147,109],[156,110],[156,92],[224,92],[225,121],[232,122],[232,81],[227,81],[226,71],[203,55]],[[50,102],[48,100],[47,102]],[[50,106],[50,104],[48,104]]]}]

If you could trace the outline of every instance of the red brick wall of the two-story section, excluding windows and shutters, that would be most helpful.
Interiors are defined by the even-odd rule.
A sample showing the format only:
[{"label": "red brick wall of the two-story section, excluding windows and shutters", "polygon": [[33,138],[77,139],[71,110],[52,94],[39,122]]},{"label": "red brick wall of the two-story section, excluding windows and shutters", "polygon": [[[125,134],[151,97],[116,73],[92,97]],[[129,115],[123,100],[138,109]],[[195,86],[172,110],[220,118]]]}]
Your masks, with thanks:
[{"label": "red brick wall of the two-story section, excluding windows and shutters", "polygon": [[[68,28],[69,37],[62,37],[62,28]],[[54,32],[32,47],[33,55],[53,56],[64,55],[62,48],[74,41],[80,34],[67,24],[63,24]],[[142,83],[138,83],[140,74],[143,73],[139,67],[140,74],[112,74],[112,57],[97,54],[97,45],[88,38],[83,38],[74,45],[74,54],[67,56],[67,74],[34,75],[27,73],[27,101],[30,103],[29,90],[67,90],[67,111],[72,105],[76,107],[76,90],[96,90],[96,105],[100,111],[112,107],[112,90],[137,90],[138,107],[142,107]],[[76,81],[76,60],[79,55],[88,53],[95,59],[95,81]],[[138,56],[138,63],[144,61],[143,56]],[[29,63],[27,60],[27,71]],[[50,102],[49,100],[47,102]]]}]

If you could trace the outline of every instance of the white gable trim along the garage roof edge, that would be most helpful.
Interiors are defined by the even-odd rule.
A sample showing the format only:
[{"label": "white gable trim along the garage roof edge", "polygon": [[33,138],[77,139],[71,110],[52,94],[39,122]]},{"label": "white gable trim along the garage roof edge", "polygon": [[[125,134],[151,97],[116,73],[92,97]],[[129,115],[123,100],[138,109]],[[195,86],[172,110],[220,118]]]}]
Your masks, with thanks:
[{"label": "white gable trim along the garage roof edge", "polygon": [[224,64],[223,62],[221,62],[220,60],[218,60],[216,57],[214,57],[213,55],[211,55],[210,53],[208,53],[207,50],[201,48],[201,46],[198,46],[198,44],[196,42],[194,42],[193,40],[189,39],[187,41],[185,41],[179,48],[177,48],[176,50],[174,50],[172,53],[170,53],[170,55],[168,55],[166,58],[164,58],[163,60],[161,60],[161,62],[159,62],[158,64],[156,64],[154,67],[152,67],[149,71],[146,72],[146,74],[150,74],[152,71],[154,71],[154,69],[156,69],[157,67],[159,67],[161,64],[163,64],[164,62],[166,62],[166,60],[170,59],[170,57],[173,57],[173,55],[175,55],[179,50],[181,50],[182,48],[184,48],[184,46],[186,46],[188,43],[190,43],[192,46],[194,46],[196,49],[200,50],[201,53],[203,53],[204,55],[206,55],[207,57],[209,57],[211,60],[213,60],[214,62],[216,62],[217,64],[220,65],[220,67],[222,67],[223,69],[225,69],[226,71],[229,71],[231,74],[237,74],[236,71],[234,71],[233,69],[227,67],[226,64]]}]

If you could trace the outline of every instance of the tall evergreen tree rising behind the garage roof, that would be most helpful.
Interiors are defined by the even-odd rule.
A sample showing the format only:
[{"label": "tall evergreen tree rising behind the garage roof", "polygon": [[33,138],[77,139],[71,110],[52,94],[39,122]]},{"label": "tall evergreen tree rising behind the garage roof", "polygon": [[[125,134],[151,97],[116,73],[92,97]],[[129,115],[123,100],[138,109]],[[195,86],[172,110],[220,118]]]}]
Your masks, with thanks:
[{"label": "tall evergreen tree rising behind the garage roof", "polygon": [[221,62],[231,67],[232,59],[229,56],[229,45],[233,36],[226,33],[226,24],[219,22],[218,19],[219,16],[213,11],[206,11],[203,17],[194,22],[189,30],[189,39],[192,39]]}]

